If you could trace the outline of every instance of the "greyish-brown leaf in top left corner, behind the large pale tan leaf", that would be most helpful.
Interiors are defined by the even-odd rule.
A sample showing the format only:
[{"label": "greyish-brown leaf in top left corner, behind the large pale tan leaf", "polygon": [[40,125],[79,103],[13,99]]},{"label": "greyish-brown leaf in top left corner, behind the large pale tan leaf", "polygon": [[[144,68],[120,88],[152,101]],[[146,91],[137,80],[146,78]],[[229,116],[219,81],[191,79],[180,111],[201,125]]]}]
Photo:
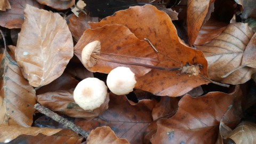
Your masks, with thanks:
[{"label": "greyish-brown leaf in top left corner, behind the large pale tan leaf", "polygon": [[5,12],[0,11],[0,26],[5,28],[21,28],[24,22],[23,10],[26,4],[33,5],[35,7],[42,7],[39,3],[34,0],[9,0],[12,9],[6,10]]}]

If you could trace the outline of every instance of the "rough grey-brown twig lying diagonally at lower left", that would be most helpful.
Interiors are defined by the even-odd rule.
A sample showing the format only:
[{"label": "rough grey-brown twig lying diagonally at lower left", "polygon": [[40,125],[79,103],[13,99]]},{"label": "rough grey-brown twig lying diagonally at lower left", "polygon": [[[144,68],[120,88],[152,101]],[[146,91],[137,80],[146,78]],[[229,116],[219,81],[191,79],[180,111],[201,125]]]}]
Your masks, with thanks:
[{"label": "rough grey-brown twig lying diagonally at lower left", "polygon": [[68,119],[59,116],[58,114],[51,111],[49,108],[41,106],[39,103],[36,103],[34,108],[38,110],[40,113],[45,114],[48,117],[51,117],[54,121],[59,122],[64,127],[67,127],[68,129],[76,132],[77,134],[81,134],[85,139],[87,139],[89,132],[86,132],[85,130],[81,129],[81,127],[68,121]]}]

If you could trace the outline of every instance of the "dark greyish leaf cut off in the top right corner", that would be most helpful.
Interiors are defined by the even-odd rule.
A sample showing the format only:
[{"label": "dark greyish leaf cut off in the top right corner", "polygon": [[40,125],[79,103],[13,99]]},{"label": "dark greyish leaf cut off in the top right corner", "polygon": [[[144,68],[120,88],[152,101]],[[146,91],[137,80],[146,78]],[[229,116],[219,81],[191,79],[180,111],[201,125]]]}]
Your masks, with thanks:
[{"label": "dark greyish leaf cut off in the top right corner", "polygon": [[235,0],[239,5],[243,6],[241,18],[247,19],[248,17],[256,18],[256,3],[253,0]]}]

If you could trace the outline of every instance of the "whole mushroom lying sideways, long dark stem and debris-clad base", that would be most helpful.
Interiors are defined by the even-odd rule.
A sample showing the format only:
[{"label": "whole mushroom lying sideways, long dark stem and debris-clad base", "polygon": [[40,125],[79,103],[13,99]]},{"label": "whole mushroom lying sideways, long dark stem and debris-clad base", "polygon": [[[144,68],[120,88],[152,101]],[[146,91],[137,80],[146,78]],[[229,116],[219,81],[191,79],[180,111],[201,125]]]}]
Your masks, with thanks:
[{"label": "whole mushroom lying sideways, long dark stem and debris-clad base", "polygon": [[163,68],[163,67],[158,67],[158,66],[152,66],[152,65],[146,65],[143,63],[135,63],[135,62],[125,62],[125,61],[117,61],[113,59],[107,59],[103,58],[100,56],[100,41],[93,41],[89,44],[87,44],[83,51],[82,51],[82,63],[83,65],[88,69],[90,67],[93,67],[95,63],[97,63],[98,59],[108,61],[108,62],[114,62],[114,63],[119,63],[123,65],[133,65],[133,66],[142,66],[142,67],[148,67],[152,69],[159,69],[159,70],[168,70],[168,71],[175,71],[175,70],[180,70],[182,74],[189,74],[191,75],[198,75],[206,79],[207,81],[218,84],[221,86],[226,86],[229,87],[227,84],[221,84],[218,82],[214,82],[211,79],[204,77],[203,75],[199,74],[200,73],[200,67],[196,65],[191,65],[191,66],[183,66],[181,68]]}]

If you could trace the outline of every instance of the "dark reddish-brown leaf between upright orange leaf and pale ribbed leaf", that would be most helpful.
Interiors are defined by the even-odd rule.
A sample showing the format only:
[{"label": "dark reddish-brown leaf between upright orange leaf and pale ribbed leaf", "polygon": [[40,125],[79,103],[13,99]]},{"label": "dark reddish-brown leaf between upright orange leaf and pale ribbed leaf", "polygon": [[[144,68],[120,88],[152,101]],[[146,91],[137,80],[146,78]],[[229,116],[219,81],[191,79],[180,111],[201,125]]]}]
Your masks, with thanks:
[{"label": "dark reddish-brown leaf between upright orange leaf and pale ribbed leaf", "polygon": [[217,21],[215,19],[210,19],[202,26],[196,37],[196,45],[202,45],[210,42],[214,37],[217,37],[226,29],[228,23]]}]

